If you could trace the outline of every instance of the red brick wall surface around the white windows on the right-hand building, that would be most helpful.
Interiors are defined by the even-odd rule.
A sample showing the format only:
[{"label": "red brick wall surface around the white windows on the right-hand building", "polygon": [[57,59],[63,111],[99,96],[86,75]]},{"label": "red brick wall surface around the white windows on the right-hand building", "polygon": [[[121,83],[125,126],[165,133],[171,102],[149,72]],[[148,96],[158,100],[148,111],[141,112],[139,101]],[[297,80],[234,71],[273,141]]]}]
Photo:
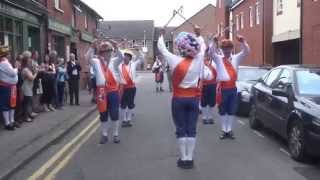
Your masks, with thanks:
[{"label": "red brick wall surface around the white windows on the right-hand building", "polygon": [[[251,52],[243,65],[268,64],[272,57],[272,1],[259,1],[261,12],[259,25],[256,24],[256,2],[257,0],[246,0],[232,10],[234,23],[236,23],[236,15],[240,16],[243,13],[244,28],[241,29],[240,27],[239,31],[235,29],[235,32],[244,36],[251,48]],[[253,8],[253,27],[250,27],[250,6]],[[239,50],[239,44],[236,43],[236,51]]]}]

